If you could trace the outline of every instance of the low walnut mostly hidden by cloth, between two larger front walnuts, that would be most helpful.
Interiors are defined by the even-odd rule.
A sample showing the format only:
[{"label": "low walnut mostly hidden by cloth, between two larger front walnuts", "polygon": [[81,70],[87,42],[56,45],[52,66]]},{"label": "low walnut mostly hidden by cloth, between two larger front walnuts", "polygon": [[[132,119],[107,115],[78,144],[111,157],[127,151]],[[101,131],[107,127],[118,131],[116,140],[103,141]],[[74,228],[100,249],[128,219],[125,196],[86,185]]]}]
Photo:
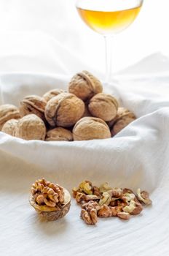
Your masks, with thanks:
[{"label": "low walnut mostly hidden by cloth, between two larger front walnuts", "polygon": [[71,131],[68,129],[65,129],[63,127],[57,127],[55,129],[50,129],[47,132],[46,141],[71,141],[73,140],[73,135]]}]

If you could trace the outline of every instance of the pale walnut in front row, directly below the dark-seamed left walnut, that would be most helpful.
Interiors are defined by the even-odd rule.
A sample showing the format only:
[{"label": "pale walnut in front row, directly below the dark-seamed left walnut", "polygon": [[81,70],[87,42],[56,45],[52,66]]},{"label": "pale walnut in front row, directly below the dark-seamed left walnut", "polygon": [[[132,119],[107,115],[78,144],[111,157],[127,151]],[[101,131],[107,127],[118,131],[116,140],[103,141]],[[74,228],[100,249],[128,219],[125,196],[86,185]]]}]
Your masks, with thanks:
[{"label": "pale walnut in front row, directly below the dark-seamed left walnut", "polygon": [[18,121],[15,136],[24,140],[44,140],[46,127],[38,116],[31,114]]}]

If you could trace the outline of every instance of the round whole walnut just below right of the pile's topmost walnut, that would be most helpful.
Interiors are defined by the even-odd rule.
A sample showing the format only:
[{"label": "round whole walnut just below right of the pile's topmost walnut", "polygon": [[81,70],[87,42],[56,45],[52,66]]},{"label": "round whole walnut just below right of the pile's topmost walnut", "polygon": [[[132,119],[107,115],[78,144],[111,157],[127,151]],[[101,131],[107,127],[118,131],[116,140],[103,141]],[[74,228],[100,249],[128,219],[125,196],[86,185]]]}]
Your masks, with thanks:
[{"label": "round whole walnut just below right of the pile's topmost walnut", "polygon": [[117,116],[118,102],[110,94],[101,93],[90,99],[88,108],[93,116],[110,121]]}]

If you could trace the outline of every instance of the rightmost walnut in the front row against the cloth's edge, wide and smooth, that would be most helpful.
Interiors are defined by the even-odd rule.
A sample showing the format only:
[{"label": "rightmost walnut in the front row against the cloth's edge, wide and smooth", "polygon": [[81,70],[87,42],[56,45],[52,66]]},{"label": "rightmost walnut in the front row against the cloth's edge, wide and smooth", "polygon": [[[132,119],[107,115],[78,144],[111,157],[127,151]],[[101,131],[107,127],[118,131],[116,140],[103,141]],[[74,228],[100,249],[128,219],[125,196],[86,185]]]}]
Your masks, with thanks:
[{"label": "rightmost walnut in the front row against the cloth's edge, wide and smooth", "polygon": [[100,118],[84,117],[76,122],[74,140],[95,140],[111,138],[108,125]]}]

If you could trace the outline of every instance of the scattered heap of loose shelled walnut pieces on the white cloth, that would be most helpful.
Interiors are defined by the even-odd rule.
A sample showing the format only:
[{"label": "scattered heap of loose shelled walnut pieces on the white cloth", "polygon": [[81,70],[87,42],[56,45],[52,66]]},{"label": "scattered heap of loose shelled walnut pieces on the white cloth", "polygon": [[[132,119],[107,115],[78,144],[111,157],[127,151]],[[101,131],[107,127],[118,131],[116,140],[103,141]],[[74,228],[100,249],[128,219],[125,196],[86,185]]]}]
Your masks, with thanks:
[{"label": "scattered heap of loose shelled walnut pieces on the white cloth", "polygon": [[95,225],[98,217],[130,219],[131,215],[140,214],[144,205],[152,203],[146,191],[138,189],[135,194],[131,189],[111,188],[108,183],[96,187],[90,181],[82,181],[72,192],[82,207],[81,217],[88,225]]}]

